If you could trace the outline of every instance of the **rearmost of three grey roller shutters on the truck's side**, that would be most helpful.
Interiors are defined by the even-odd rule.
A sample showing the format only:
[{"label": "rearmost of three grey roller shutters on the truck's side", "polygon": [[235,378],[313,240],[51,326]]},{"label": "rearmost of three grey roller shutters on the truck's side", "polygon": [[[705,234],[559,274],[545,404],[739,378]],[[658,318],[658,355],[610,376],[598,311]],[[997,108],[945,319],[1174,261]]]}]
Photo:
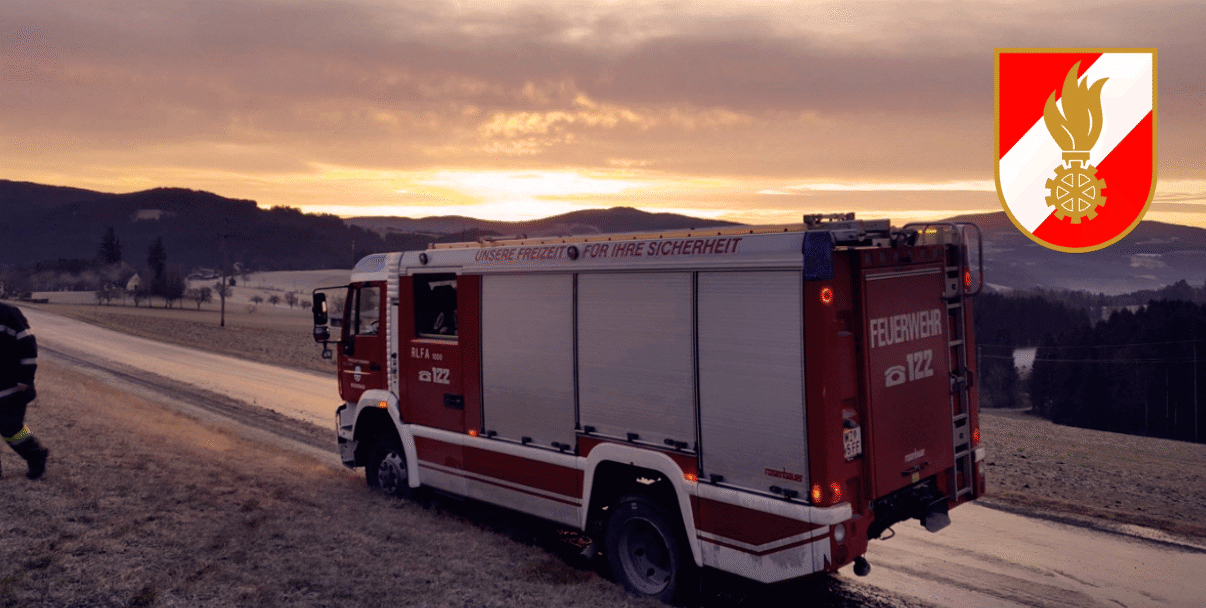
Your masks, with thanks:
[{"label": "rearmost of three grey roller shutters on the truck's side", "polygon": [[699,273],[699,428],[713,479],[808,496],[800,281]]}]

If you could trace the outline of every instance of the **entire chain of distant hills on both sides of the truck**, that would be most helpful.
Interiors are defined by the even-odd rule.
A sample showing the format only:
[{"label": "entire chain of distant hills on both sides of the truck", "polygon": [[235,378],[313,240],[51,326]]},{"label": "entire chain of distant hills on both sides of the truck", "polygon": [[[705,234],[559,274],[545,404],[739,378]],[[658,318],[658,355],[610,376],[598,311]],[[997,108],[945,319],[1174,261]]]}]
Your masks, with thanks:
[{"label": "entire chain of distant hills on both sides of the truck", "polygon": [[[256,270],[350,268],[379,251],[426,249],[438,241],[484,236],[554,236],[616,232],[656,232],[732,226],[677,214],[631,207],[590,209],[525,222],[461,216],[425,218],[352,217],[259,209],[209,192],[156,188],[111,194],[78,188],[0,180],[0,265],[28,265],[59,258],[90,259],[105,228],[122,240],[124,259],[146,263],[147,250],[163,236],[169,264],[213,268],[222,262],[222,234],[229,262]],[[1160,288],[1178,280],[1206,282],[1206,230],[1141,222],[1119,242],[1091,253],[1061,253],[1023,235],[1003,211],[960,216],[984,233],[987,280],[1001,288],[1046,287],[1107,294]]]}]

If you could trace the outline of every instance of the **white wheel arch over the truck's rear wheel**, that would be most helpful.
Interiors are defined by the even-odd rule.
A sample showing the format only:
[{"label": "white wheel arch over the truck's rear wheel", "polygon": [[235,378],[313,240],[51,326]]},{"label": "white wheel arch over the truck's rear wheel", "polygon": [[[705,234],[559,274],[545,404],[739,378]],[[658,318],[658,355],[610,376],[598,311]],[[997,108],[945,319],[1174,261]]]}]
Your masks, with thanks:
[{"label": "white wheel arch over the truck's rear wheel", "polygon": [[[648,485],[636,483],[638,477],[650,473],[661,475],[662,480]],[[607,508],[631,493],[643,493],[658,504],[678,509],[691,557],[697,567],[702,567],[703,553],[691,508],[691,497],[697,493],[696,484],[689,483],[678,463],[658,451],[622,444],[601,444],[591,450],[584,472],[581,530],[590,533],[603,519]]]}]

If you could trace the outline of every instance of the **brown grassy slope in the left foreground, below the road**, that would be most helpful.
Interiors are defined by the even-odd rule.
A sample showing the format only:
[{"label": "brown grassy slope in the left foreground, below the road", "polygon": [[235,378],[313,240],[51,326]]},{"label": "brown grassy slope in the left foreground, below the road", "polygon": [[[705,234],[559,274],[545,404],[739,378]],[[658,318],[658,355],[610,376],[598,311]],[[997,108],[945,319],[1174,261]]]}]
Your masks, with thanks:
[{"label": "brown grassy slope in the left foreground, below the road", "polygon": [[39,388],[46,478],[0,455],[0,606],[655,606],[70,369]]}]

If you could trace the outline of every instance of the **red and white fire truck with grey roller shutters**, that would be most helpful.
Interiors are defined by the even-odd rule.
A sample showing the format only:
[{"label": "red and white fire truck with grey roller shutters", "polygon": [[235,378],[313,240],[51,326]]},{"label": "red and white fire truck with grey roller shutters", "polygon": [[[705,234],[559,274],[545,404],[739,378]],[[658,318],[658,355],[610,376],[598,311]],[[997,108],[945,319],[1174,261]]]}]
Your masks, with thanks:
[{"label": "red and white fire truck with grey roller shutters", "polygon": [[314,299],[339,454],[581,531],[665,601],[704,567],[866,574],[868,539],[984,492],[979,242],[845,214],[368,256],[338,339]]}]

